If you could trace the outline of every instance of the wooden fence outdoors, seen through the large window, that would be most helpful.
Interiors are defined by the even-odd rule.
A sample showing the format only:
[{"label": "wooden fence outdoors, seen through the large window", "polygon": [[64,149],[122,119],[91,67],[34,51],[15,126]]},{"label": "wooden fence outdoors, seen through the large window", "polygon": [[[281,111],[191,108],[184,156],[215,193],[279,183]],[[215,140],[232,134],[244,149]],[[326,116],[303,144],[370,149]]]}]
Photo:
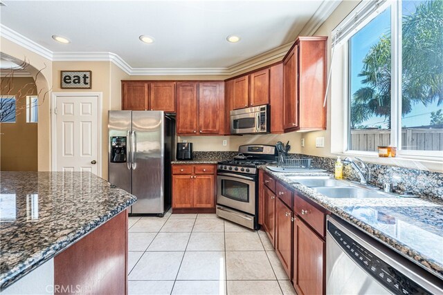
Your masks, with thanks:
[{"label": "wooden fence outdoors, seen through the large window", "polygon": [[[350,140],[353,151],[377,151],[377,146],[390,144],[390,130],[352,130]],[[401,129],[401,146],[406,150],[443,151],[443,129]]]}]

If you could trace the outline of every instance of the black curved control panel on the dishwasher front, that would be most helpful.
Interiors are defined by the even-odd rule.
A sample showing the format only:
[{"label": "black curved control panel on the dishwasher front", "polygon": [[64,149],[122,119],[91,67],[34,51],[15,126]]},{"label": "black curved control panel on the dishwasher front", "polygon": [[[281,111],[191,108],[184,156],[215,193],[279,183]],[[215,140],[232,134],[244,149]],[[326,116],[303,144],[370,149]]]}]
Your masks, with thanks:
[{"label": "black curved control panel on the dishwasher front", "polygon": [[394,269],[383,260],[372,254],[368,249],[352,240],[343,231],[338,229],[331,222],[327,222],[327,231],[336,240],[341,249],[354,260],[365,272],[370,274],[381,285],[394,294],[431,294],[423,287],[417,285],[397,269]]}]

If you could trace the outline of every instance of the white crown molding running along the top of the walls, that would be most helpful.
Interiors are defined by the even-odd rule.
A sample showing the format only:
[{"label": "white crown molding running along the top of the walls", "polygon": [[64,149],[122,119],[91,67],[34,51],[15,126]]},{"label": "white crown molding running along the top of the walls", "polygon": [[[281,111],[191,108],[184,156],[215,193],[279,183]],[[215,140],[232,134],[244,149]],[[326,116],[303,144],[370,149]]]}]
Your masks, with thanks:
[{"label": "white crown molding running along the top of the walls", "polygon": [[[323,1],[314,15],[302,28],[299,35],[311,36],[341,3],[341,0]],[[51,61],[110,61],[130,76],[170,76],[170,75],[226,75],[231,76],[283,58],[293,44],[290,42],[265,53],[246,59],[226,68],[133,68],[119,55],[107,52],[53,52],[31,39],[24,37],[7,26],[0,25],[0,36],[22,46]]]}]

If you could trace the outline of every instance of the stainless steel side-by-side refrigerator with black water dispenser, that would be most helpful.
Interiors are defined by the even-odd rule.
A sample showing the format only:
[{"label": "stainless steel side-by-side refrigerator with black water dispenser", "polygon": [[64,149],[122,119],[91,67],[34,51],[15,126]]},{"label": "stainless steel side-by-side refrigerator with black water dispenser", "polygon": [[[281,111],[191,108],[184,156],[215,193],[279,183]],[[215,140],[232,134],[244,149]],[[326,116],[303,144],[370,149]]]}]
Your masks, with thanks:
[{"label": "stainless steel side-by-side refrigerator with black water dispenser", "polygon": [[111,184],[132,193],[132,214],[163,216],[171,206],[175,122],[163,111],[109,111]]}]

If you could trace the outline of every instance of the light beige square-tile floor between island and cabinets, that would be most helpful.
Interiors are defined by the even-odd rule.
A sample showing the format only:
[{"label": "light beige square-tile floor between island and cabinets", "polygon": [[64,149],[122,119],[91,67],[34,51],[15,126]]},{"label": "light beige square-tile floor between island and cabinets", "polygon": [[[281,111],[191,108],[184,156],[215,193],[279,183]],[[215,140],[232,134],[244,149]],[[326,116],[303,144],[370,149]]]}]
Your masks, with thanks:
[{"label": "light beige square-tile floor between island and cabinets", "polygon": [[129,294],[296,294],[264,231],[215,214],[129,217]]}]

